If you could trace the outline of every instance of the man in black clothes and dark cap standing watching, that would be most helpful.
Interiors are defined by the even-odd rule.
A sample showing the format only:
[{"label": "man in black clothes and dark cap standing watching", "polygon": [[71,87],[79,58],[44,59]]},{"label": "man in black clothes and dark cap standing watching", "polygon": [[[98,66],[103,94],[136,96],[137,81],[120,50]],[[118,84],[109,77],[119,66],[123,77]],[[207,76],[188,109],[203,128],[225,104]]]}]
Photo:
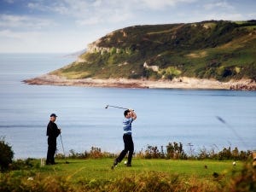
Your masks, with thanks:
[{"label": "man in black clothes and dark cap standing watching", "polygon": [[57,147],[56,139],[61,133],[61,129],[55,124],[56,117],[55,113],[52,113],[50,115],[49,124],[47,125],[46,136],[48,136],[48,152],[46,165],[55,164],[55,151]]}]

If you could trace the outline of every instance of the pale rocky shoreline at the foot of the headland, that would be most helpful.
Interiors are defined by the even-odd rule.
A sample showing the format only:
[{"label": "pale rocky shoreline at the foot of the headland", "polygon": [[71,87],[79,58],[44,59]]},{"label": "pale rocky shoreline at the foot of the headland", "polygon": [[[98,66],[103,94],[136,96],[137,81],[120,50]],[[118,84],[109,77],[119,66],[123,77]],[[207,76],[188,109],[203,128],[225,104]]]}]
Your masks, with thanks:
[{"label": "pale rocky shoreline at the foot of the headland", "polygon": [[172,80],[148,79],[66,79],[52,74],[23,80],[26,84],[84,86],[84,87],[116,87],[144,89],[202,89],[202,90],[256,90],[256,82],[251,79],[219,82],[214,79],[178,78]]}]

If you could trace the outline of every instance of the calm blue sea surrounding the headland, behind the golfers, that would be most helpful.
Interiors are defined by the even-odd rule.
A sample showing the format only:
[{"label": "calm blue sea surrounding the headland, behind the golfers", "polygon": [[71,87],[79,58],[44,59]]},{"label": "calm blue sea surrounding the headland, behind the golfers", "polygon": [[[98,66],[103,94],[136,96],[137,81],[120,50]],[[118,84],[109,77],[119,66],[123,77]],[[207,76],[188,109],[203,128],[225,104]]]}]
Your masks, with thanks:
[{"label": "calm blue sea surrounding the headland, behind the golfers", "polygon": [[65,54],[0,54],[0,137],[15,159],[45,158],[50,113],[61,128],[59,153],[124,148],[124,110],[137,119],[132,137],[138,153],[148,146],[182,143],[186,153],[202,149],[256,149],[256,91],[123,89],[29,85],[22,80],[76,60]]}]

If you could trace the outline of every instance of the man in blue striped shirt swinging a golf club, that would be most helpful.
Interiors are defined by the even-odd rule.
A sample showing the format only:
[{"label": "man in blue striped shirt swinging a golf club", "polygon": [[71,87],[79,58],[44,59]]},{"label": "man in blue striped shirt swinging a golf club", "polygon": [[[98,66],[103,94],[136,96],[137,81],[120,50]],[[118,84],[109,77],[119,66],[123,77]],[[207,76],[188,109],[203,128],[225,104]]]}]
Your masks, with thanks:
[{"label": "man in blue striped shirt swinging a golf club", "polygon": [[121,162],[124,158],[127,152],[128,154],[128,162],[126,166],[131,166],[131,158],[134,151],[133,141],[131,137],[131,123],[137,119],[137,114],[132,109],[125,110],[125,119],[123,121],[123,128],[124,128],[124,136],[123,140],[125,143],[125,149],[119,154],[119,157],[116,158],[113,161],[113,166],[117,166],[119,162]]}]

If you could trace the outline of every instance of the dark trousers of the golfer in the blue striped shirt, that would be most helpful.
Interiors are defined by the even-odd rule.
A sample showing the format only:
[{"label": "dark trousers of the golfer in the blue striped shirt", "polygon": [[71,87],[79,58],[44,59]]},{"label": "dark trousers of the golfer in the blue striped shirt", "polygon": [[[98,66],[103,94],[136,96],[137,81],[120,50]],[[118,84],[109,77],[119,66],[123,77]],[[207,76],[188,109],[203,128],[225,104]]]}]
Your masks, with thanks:
[{"label": "dark trousers of the golfer in the blue striped shirt", "polygon": [[132,137],[131,135],[124,134],[123,140],[125,143],[125,149],[119,154],[119,157],[116,160],[118,162],[121,162],[125,158],[125,155],[127,154],[127,152],[129,151],[127,164],[131,164],[131,158],[134,151]]}]

